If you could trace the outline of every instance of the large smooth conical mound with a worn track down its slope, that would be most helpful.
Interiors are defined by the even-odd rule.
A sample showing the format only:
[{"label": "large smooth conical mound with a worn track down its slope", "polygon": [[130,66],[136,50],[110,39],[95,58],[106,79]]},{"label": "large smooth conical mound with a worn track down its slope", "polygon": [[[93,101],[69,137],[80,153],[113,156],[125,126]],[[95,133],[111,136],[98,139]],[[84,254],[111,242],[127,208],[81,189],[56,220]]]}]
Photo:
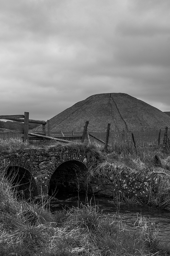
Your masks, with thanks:
[{"label": "large smooth conical mound with a worn track down its slope", "polygon": [[170,117],[159,109],[125,93],[103,93],[92,95],[51,118],[50,130],[80,132],[86,120],[89,132],[105,132],[108,123],[113,131],[170,127]]}]

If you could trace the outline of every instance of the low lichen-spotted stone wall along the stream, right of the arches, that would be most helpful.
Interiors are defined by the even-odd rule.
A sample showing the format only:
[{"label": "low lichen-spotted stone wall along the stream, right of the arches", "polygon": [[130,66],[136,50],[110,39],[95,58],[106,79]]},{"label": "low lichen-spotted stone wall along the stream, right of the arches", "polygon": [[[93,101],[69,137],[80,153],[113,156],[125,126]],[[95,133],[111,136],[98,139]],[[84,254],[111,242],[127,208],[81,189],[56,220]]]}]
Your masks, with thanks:
[{"label": "low lichen-spotted stone wall along the stream, right of the arches", "polygon": [[92,178],[89,187],[91,193],[95,193],[98,196],[108,196],[118,200],[135,198],[144,202],[156,198],[157,181],[158,178],[155,176],[154,189],[151,177],[146,176],[143,178],[135,174],[129,177],[127,174],[122,173],[121,178],[118,180],[117,178],[115,179],[114,175],[110,178]]}]

